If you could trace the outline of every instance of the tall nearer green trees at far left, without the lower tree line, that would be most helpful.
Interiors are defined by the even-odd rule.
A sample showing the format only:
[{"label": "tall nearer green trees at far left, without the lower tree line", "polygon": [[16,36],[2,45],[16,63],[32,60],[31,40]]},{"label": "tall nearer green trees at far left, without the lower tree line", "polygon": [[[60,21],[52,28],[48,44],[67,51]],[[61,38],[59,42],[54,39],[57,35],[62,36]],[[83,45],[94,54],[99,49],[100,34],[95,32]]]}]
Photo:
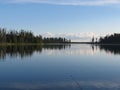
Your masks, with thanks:
[{"label": "tall nearer green trees at far left, without the lower tree line", "polygon": [[0,43],[42,43],[42,36],[35,36],[31,31],[10,30],[0,28]]}]

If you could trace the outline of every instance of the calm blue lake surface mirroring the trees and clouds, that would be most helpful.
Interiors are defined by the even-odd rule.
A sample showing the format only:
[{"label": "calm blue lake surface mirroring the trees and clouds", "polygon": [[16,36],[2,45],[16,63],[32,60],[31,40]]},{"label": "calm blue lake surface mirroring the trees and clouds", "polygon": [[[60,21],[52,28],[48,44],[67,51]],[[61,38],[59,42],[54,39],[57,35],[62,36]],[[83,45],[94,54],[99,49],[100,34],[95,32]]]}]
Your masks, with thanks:
[{"label": "calm blue lake surface mirroring the trees and clouds", "polygon": [[0,90],[120,90],[120,46],[0,47]]}]

